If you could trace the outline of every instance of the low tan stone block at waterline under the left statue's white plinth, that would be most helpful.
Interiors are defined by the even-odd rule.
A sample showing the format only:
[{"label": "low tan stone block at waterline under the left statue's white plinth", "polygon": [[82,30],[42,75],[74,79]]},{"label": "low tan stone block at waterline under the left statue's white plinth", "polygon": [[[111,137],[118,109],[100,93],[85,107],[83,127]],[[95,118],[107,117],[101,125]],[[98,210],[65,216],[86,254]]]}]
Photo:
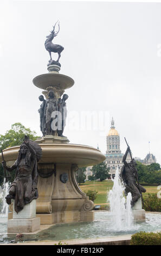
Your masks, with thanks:
[{"label": "low tan stone block at waterline under the left statue's white plinth", "polygon": [[8,233],[32,233],[40,230],[40,218],[8,220]]}]

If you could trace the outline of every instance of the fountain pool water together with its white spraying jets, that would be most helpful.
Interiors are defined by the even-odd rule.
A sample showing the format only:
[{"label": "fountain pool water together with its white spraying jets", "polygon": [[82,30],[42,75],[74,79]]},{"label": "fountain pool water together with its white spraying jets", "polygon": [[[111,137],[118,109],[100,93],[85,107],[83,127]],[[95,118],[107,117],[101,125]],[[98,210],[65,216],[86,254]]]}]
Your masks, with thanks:
[{"label": "fountain pool water together with its white spraying jets", "polygon": [[[4,189],[5,188],[5,189]],[[95,211],[94,221],[61,223],[49,226],[37,234],[24,234],[23,241],[64,241],[70,239],[94,239],[121,235],[131,235],[139,231],[160,231],[161,212],[146,213],[143,222],[134,221],[131,209],[131,194],[125,198],[124,186],[119,179],[119,170],[115,174],[114,185],[108,193],[111,211]],[[3,187],[7,192],[8,186]],[[2,199],[3,199],[2,194]],[[7,234],[8,210],[3,204],[0,215],[0,243],[14,243],[15,234]],[[4,209],[5,213],[4,213]]]}]

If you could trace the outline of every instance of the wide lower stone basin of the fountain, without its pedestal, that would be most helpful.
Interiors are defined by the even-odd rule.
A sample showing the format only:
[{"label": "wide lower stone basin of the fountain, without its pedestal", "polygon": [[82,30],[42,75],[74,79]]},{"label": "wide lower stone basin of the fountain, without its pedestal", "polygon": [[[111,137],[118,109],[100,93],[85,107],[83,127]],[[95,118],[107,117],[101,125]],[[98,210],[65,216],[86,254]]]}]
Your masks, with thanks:
[{"label": "wide lower stone basin of the fountain, without its pedestal", "polygon": [[[71,163],[77,164],[79,167],[85,167],[103,162],[106,158],[100,150],[87,145],[58,143],[39,143],[39,145],[42,148],[40,163]],[[20,146],[4,149],[5,161],[15,161],[18,156],[18,150],[20,150]],[[0,161],[2,161],[1,154]]]}]

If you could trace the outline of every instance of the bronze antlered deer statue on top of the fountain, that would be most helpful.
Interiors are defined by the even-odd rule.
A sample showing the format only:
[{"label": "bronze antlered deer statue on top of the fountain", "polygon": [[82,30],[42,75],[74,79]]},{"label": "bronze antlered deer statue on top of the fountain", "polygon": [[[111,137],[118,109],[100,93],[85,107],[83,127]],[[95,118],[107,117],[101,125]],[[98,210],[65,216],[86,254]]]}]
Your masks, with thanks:
[{"label": "bronze antlered deer statue on top of the fountain", "polygon": [[[57,22],[56,22],[57,23]],[[52,58],[51,58],[51,52],[57,52],[58,53],[58,59],[56,60],[56,62],[59,63],[59,59],[60,59],[60,56],[61,56],[61,52],[64,50],[64,47],[62,47],[61,45],[56,45],[56,44],[53,44],[52,40],[54,39],[54,37],[59,33],[60,31],[60,26],[59,26],[59,29],[57,32],[55,32],[55,26],[56,26],[56,23],[55,25],[53,26],[53,30],[50,31],[51,34],[47,35],[47,40],[45,41],[45,47],[46,47],[46,50],[49,52],[50,54],[50,60],[49,62],[51,62]]]}]

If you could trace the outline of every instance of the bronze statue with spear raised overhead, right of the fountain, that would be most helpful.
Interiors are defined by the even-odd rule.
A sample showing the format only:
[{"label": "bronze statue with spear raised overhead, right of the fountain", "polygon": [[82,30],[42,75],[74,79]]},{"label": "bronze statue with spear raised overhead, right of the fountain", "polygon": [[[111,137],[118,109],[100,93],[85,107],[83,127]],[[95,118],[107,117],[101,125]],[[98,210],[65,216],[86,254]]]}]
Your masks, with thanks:
[{"label": "bronze statue with spear raised overhead, right of the fountain", "polygon": [[[131,162],[127,163],[126,157],[127,154],[130,153],[131,156]],[[138,171],[137,171],[137,163],[134,159],[132,159],[131,150],[130,147],[127,145],[126,153],[123,157],[124,165],[121,168],[120,178],[124,182],[125,185],[125,196],[129,192],[131,192],[132,195],[132,206],[137,202],[137,200],[141,197],[142,193],[146,192],[145,188],[141,186],[138,182]]]}]

